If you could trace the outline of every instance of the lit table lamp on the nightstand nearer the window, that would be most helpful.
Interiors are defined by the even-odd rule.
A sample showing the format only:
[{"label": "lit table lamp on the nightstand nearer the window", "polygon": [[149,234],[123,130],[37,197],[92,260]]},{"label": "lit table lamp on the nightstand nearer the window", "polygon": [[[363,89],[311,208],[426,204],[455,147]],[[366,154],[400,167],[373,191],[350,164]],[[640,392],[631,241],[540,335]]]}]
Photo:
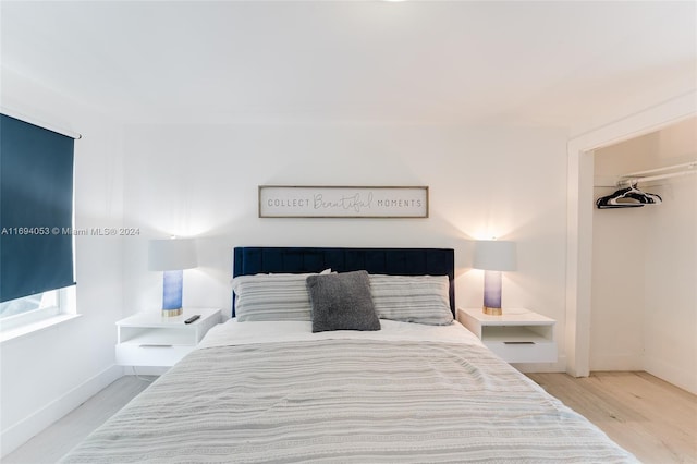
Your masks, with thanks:
[{"label": "lit table lamp on the nightstand nearer the window", "polygon": [[180,316],[184,269],[195,268],[196,246],[193,240],[151,240],[148,244],[148,269],[164,271],[162,280],[162,316]]}]

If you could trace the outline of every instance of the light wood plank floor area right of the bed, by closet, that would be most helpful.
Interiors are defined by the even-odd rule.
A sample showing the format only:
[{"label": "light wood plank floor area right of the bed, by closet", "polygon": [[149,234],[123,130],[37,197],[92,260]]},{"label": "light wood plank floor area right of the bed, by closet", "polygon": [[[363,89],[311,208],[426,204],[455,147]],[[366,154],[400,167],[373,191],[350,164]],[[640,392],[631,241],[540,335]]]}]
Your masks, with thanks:
[{"label": "light wood plank floor area right of the bed, by closet", "polygon": [[697,396],[650,374],[528,374],[647,464],[697,463]]}]

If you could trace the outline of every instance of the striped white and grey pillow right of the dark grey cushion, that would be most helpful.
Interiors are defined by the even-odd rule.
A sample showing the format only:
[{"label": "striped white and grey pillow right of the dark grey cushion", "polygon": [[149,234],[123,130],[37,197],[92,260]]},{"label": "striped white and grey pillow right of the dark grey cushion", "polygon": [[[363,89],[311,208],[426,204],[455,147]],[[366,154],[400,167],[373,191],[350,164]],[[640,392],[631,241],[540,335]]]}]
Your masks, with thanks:
[{"label": "striped white and grey pillow right of the dark grey cushion", "polygon": [[450,310],[448,276],[370,274],[370,292],[380,319],[448,326]]}]

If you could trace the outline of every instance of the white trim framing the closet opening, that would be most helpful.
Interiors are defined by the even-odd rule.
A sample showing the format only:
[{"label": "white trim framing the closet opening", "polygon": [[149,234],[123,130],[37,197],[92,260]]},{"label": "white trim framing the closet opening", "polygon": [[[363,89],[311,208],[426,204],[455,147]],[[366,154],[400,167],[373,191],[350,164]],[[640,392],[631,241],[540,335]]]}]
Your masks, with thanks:
[{"label": "white trim framing the closet opening", "polygon": [[566,373],[590,374],[594,151],[697,114],[697,90],[572,138],[567,144]]}]

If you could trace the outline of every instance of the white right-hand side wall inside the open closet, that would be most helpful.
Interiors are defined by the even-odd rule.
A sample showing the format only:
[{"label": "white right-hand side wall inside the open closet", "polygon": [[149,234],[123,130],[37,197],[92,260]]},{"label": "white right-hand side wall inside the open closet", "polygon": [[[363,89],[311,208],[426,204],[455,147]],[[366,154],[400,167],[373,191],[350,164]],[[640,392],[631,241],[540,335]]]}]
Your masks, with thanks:
[{"label": "white right-hand side wall inside the open closet", "polygon": [[[697,159],[697,119],[659,133],[660,166]],[[664,199],[647,231],[647,371],[697,394],[697,174],[655,188]]]}]

